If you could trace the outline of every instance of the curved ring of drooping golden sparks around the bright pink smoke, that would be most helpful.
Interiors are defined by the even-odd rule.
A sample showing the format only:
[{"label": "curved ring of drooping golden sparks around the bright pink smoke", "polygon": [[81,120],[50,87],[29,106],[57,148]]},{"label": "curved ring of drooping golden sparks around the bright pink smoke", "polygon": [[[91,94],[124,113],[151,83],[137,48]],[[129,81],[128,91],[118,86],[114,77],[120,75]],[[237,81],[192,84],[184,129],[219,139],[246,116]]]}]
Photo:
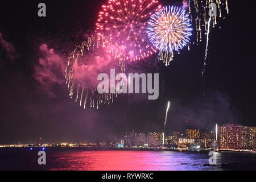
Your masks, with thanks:
[{"label": "curved ring of drooping golden sparks around the bright pink smoke", "polygon": [[[84,41],[81,46],[76,46],[75,50],[71,52],[68,57],[68,64],[65,69],[65,78],[69,90],[69,96],[71,98],[75,97],[75,102],[79,102],[80,106],[84,105],[84,109],[86,109],[86,104],[88,104],[89,107],[99,109],[100,105],[103,104],[102,102],[104,96],[104,104],[106,104],[106,99],[108,100],[108,104],[110,104],[110,100],[112,101],[112,103],[114,102],[114,94],[99,94],[98,92],[96,92],[97,89],[94,88],[94,86],[90,86],[89,84],[88,86],[86,85],[87,83],[83,85],[74,76],[74,72],[76,69],[75,65],[83,59],[82,56],[86,53],[89,53],[89,51],[92,49],[101,47],[102,45],[104,45],[104,43],[105,42],[102,39],[102,35],[101,39],[99,39],[97,36],[89,35],[86,38],[86,41]],[[84,63],[84,65],[86,65],[86,63]],[[121,72],[125,70],[124,65],[125,64],[120,64],[119,60],[119,69],[121,70]]]}]

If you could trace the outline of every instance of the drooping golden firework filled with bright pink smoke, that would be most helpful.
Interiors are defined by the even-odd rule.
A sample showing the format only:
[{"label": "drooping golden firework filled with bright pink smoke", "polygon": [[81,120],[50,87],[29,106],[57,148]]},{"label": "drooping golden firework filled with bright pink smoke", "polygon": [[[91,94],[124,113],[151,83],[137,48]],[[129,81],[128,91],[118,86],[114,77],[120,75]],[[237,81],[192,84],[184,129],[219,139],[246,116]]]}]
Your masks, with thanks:
[{"label": "drooping golden firework filled with bright pink smoke", "polygon": [[[97,92],[97,75],[116,65],[115,61],[106,55],[102,44],[102,39],[88,36],[68,57],[65,78],[69,96],[75,98],[84,109],[88,105],[98,109],[101,104],[110,104],[114,97],[117,97],[117,93]],[[123,71],[122,64],[119,63],[118,68]]]}]

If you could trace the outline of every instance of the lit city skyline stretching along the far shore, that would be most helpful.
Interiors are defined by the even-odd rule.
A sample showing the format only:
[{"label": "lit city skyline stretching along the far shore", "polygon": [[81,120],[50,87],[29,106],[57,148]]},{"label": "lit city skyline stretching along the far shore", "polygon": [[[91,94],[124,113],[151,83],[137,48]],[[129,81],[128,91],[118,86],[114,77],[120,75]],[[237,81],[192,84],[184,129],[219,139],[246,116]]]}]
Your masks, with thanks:
[{"label": "lit city skyline stretching along the far shore", "polygon": [[217,150],[254,150],[256,152],[256,127],[225,124],[218,126],[217,131],[209,133],[200,129],[186,129],[184,133],[173,131],[172,134],[164,134],[164,140],[163,133],[157,132],[126,132],[122,137],[113,140],[108,136],[105,136],[105,139],[97,136],[96,141],[84,140],[83,142],[48,143],[39,138],[37,142],[30,144],[0,144],[0,147],[165,147],[163,149],[212,150],[212,144],[217,138]]}]

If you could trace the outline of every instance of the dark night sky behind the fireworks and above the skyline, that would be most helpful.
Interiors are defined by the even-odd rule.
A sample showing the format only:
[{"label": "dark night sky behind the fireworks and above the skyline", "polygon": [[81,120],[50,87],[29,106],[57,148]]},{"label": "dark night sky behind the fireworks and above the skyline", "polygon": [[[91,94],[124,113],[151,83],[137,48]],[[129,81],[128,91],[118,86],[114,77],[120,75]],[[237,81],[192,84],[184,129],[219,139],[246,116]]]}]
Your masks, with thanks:
[{"label": "dark night sky behind the fireworks and above the skyline", "polygon": [[[38,3],[47,17],[38,17]],[[208,65],[203,67],[206,39],[185,48],[169,67],[155,57],[130,64],[138,72],[160,73],[158,100],[120,96],[100,110],[82,109],[68,96],[63,74],[51,68],[55,82],[38,81],[39,59],[54,49],[56,59],[67,59],[75,44],[92,30],[106,0],[5,1],[0,4],[0,143],[81,142],[121,137],[125,131],[162,132],[167,102],[172,105],[167,134],[187,128],[213,130],[214,125],[256,126],[255,6],[253,1],[229,1],[224,15],[209,35]],[[181,1],[160,1],[179,5]],[[192,36],[192,40],[195,35]],[[47,45],[42,49],[42,45]],[[54,79],[52,79],[54,80]],[[187,122],[188,121],[188,122]]]}]

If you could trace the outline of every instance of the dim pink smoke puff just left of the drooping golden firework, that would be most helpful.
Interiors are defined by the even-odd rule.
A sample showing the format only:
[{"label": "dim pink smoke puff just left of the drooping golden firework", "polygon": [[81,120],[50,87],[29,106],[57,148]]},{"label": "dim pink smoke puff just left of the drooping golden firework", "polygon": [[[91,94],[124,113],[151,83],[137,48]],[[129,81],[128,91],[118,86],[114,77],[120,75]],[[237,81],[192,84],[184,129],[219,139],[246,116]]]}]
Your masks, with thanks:
[{"label": "dim pink smoke puff just left of the drooping golden firework", "polygon": [[56,97],[52,87],[55,84],[64,84],[65,81],[63,58],[54,49],[49,49],[47,44],[42,44],[39,51],[42,56],[39,58],[39,65],[35,66],[34,79],[50,97]]}]

